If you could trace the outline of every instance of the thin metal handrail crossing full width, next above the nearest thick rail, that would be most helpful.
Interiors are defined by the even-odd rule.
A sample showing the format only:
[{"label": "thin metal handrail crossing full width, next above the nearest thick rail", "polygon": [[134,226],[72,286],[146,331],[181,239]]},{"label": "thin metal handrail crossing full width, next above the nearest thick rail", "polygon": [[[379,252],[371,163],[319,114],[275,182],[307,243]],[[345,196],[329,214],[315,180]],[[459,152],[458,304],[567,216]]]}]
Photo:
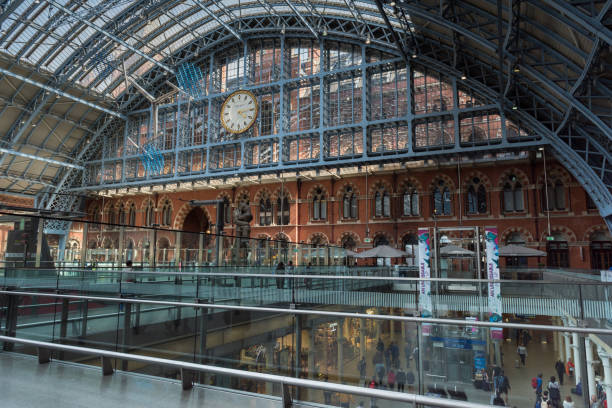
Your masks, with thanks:
[{"label": "thin metal handrail crossing full width, next above the nearest thick rail", "polygon": [[40,296],[40,297],[55,297],[60,299],[83,299],[99,302],[114,302],[114,303],[132,303],[132,304],[151,304],[160,306],[176,306],[176,307],[193,307],[199,309],[220,309],[220,310],[240,310],[250,312],[267,312],[292,315],[316,315],[327,317],[344,317],[358,319],[375,319],[375,320],[391,320],[399,322],[413,322],[417,324],[448,324],[456,326],[478,326],[478,327],[500,327],[509,329],[533,329],[544,331],[562,331],[567,333],[581,334],[607,334],[612,335],[611,329],[602,329],[598,327],[572,327],[572,326],[546,326],[542,324],[523,324],[523,323],[504,323],[504,322],[483,322],[472,320],[453,320],[439,319],[432,317],[413,317],[413,316],[396,316],[396,315],[379,315],[367,313],[349,313],[349,312],[329,312],[324,310],[312,309],[294,309],[294,308],[275,308],[275,307],[259,307],[259,306],[239,306],[239,305],[219,305],[213,303],[193,303],[193,302],[174,302],[166,300],[148,300],[134,298],[115,298],[102,296],[84,296],[84,295],[67,295],[59,293],[42,293],[42,292],[22,292],[12,290],[0,290],[3,295],[17,296]]}]

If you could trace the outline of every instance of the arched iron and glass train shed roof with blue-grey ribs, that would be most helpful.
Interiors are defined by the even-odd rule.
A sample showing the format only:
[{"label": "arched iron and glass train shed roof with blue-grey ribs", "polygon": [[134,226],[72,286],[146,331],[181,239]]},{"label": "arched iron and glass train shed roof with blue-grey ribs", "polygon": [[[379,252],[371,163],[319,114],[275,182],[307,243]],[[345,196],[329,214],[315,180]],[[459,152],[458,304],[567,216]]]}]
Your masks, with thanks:
[{"label": "arched iron and glass train shed roof with blue-grey ribs", "polygon": [[[167,81],[174,79],[176,67],[183,62],[215,61],[216,52],[240,47],[246,54],[249,43],[258,39],[280,38],[284,44],[299,36],[311,38],[322,51],[330,48],[326,44],[332,40],[358,43],[364,54],[380,50],[388,53],[387,62],[408,65],[409,70],[427,67],[442,73],[453,92],[474,92],[487,101],[486,109],[512,120],[540,140],[518,141],[515,147],[521,143],[549,144],[558,160],[589,192],[602,216],[608,219],[612,214],[612,0],[1,3],[0,46],[6,56],[0,59],[4,65],[0,67],[0,80],[10,80],[14,93],[0,95],[4,103],[1,122],[10,124],[4,129],[0,146],[4,149],[0,181],[7,191],[46,192],[40,200],[49,208],[70,209],[76,205],[72,196],[49,193],[86,188],[88,173],[80,168],[105,161],[104,146],[129,130],[131,119],[121,117],[148,106],[134,87],[127,86],[119,69],[122,64],[140,86],[152,95],[161,95],[171,90]],[[321,74],[318,79],[331,82],[332,77],[342,78],[350,71],[361,73],[363,84],[371,83],[368,70],[387,69],[385,64],[369,64],[364,59],[346,71],[327,69],[325,77]],[[218,80],[210,75],[213,85]],[[290,90],[295,81],[280,78],[274,82],[280,94]],[[248,81],[244,85],[257,88]],[[27,97],[20,97],[25,94]],[[205,97],[208,109],[222,95],[222,91],[209,93]],[[362,99],[364,109],[370,97]],[[286,102],[287,98],[280,98],[280,103]],[[479,146],[462,145],[460,130],[456,129],[468,111],[458,107],[449,111],[454,116],[455,145],[422,154],[479,150]],[[412,132],[419,121],[430,120],[429,113],[419,116],[412,109],[404,117],[393,119],[372,120],[369,112],[364,113],[357,126],[365,129],[364,134],[372,126],[393,127],[401,120]],[[432,114],[435,116],[440,114]],[[39,129],[45,124],[51,129],[43,133]],[[208,131],[211,129],[214,124]],[[325,138],[326,132],[340,129],[323,122],[317,132]],[[515,148],[505,133],[494,146],[501,150]],[[281,130],[277,134],[279,143],[289,135],[290,131]],[[407,152],[380,156],[369,155],[364,145],[364,154],[351,160],[409,160],[421,154],[412,142]],[[183,148],[178,145],[173,144],[175,158]],[[207,152],[212,148],[206,146]],[[19,163],[22,156],[13,154],[19,152],[41,157],[56,153],[55,158],[61,160],[55,160],[60,164],[49,160]],[[346,162],[318,159],[311,163],[313,167]],[[240,169],[246,169],[244,163],[241,161]],[[291,166],[283,162],[281,154],[273,169],[259,166],[250,171],[278,171]],[[206,172],[206,177],[227,175],[224,171],[212,174],[210,168]],[[183,177],[173,171],[171,176],[168,179],[181,181],[193,175]],[[119,188],[128,183],[122,176],[110,184]]]}]

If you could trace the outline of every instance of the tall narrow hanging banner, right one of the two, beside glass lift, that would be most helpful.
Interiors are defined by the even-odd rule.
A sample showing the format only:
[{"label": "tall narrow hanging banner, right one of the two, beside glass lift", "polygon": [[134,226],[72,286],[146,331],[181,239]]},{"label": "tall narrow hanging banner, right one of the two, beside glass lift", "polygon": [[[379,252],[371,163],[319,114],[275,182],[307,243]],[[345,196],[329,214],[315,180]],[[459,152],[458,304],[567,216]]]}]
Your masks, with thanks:
[{"label": "tall narrow hanging banner, right one of the two, beside glass lift", "polygon": [[[487,278],[491,280],[499,280],[499,241],[497,236],[497,228],[485,228],[486,239],[486,254],[487,254]],[[502,301],[501,301],[501,286],[499,282],[489,282],[488,284],[488,311],[490,322],[502,321]],[[503,330],[501,328],[491,329],[491,339],[503,339]]]}]

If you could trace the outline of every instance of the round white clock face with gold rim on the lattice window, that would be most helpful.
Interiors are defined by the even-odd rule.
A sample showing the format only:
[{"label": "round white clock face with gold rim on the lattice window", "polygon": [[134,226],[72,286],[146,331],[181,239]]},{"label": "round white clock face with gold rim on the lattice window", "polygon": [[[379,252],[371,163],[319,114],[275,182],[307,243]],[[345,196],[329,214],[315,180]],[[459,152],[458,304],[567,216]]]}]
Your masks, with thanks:
[{"label": "round white clock face with gold rim on the lattice window", "polygon": [[221,106],[221,124],[230,133],[242,133],[255,123],[257,109],[255,95],[236,91]]}]

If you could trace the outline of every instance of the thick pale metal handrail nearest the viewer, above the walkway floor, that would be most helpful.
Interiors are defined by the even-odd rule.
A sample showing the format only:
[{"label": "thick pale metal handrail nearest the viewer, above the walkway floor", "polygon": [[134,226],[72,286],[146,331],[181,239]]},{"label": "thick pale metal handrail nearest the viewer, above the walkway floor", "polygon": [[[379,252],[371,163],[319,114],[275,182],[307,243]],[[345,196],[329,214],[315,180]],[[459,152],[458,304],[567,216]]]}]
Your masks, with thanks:
[{"label": "thick pale metal handrail nearest the viewer, above the walkway floor", "polygon": [[159,364],[167,367],[179,368],[183,370],[206,372],[219,375],[228,375],[234,377],[247,378],[256,381],[274,382],[281,385],[293,385],[305,388],[315,388],[324,391],[339,392],[343,394],[361,395],[371,398],[382,398],[392,401],[407,402],[412,404],[422,404],[428,406],[442,408],[487,408],[490,405],[476,404],[473,402],[465,402],[459,400],[446,400],[443,398],[427,397],[424,395],[410,394],[403,392],[385,391],[379,389],[371,389],[366,387],[358,387],[355,385],[335,384],[329,382],[321,382],[315,380],[307,380],[303,378],[286,377],[274,374],[256,373],[252,371],[237,370],[233,368],[217,367],[208,364],[196,364],[184,361],[170,360],[159,357],[142,356],[138,354],[121,353],[117,351],[99,350],[89,347],[77,347],[66,344],[49,343],[38,340],[20,339],[16,337],[0,336],[0,341],[8,343],[20,343],[29,346],[35,346],[43,349],[68,351],[78,354],[94,354],[101,357],[116,358],[121,360],[131,360],[146,364]]}]

